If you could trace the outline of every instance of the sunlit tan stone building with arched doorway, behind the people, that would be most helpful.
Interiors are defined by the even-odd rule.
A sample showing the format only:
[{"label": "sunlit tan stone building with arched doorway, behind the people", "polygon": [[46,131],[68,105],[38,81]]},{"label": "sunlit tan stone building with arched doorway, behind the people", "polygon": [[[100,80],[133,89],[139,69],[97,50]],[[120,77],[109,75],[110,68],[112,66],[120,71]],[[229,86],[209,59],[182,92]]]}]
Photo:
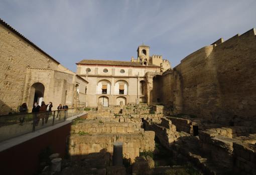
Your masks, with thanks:
[{"label": "sunlit tan stone building with arched doorway, behind the people", "polygon": [[[72,106],[75,85],[85,89],[86,81],[0,22],[0,114],[16,112],[23,102],[31,109],[37,91],[35,83],[43,85],[43,100],[53,102],[54,110],[59,103]],[[85,97],[80,96],[82,102]]]}]

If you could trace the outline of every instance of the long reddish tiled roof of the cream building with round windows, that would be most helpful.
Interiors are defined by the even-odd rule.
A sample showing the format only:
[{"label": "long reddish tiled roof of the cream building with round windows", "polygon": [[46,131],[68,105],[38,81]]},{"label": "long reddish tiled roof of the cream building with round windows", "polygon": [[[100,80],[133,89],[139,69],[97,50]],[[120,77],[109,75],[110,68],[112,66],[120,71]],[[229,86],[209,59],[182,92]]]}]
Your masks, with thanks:
[{"label": "long reddish tiled roof of the cream building with round windows", "polygon": [[[130,61],[110,61],[110,60],[82,60],[78,64],[91,64],[91,65],[113,65],[113,66],[143,66],[140,62],[130,62]],[[160,67],[154,64],[149,64],[149,67]]]}]

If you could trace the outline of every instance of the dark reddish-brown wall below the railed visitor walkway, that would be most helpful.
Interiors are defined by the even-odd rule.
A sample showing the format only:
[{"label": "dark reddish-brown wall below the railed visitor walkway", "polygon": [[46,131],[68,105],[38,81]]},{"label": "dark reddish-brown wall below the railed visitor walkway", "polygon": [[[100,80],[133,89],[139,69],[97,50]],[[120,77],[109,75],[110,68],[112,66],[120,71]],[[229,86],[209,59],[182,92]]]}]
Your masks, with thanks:
[{"label": "dark reddish-brown wall below the railed visitor walkway", "polygon": [[[64,158],[71,123],[0,152],[2,174],[37,174],[51,153]],[[15,168],[14,168],[15,166]],[[45,166],[44,166],[45,167]]]}]

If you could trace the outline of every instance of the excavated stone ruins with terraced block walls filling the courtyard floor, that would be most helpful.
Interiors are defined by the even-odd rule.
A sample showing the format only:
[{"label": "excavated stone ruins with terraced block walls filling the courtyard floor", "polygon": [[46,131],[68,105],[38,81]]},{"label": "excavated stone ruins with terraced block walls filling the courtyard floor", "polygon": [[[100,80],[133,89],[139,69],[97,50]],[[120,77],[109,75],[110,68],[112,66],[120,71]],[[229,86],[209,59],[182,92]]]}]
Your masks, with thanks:
[{"label": "excavated stone ruins with terraced block walls filling the courtyard floor", "polygon": [[[73,121],[70,158],[59,173],[255,174],[254,118],[231,123],[170,115],[162,105],[99,104],[86,119]],[[122,143],[123,165],[112,163],[116,142]]]}]

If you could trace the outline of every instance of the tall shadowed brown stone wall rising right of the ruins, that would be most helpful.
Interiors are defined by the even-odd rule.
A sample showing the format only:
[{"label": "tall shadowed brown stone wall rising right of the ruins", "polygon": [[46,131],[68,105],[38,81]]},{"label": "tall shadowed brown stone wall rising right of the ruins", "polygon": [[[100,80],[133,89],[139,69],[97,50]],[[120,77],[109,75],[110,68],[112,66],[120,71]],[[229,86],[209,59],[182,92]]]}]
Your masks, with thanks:
[{"label": "tall shadowed brown stone wall rising right of the ruins", "polygon": [[[256,113],[256,31],[222,39],[155,78],[157,98],[176,113],[208,119]],[[161,89],[161,90],[159,90]],[[154,90],[153,90],[154,91]]]}]

